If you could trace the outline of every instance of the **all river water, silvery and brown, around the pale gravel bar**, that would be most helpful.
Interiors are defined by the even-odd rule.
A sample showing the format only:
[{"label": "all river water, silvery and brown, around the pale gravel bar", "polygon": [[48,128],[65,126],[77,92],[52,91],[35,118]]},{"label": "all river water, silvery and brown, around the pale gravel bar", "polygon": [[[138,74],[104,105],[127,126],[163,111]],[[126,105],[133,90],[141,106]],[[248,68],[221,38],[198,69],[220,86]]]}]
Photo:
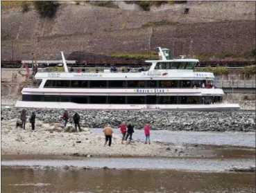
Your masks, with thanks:
[{"label": "all river water, silvery and brown, around the pale gravel bar", "polygon": [[[92,132],[102,135],[102,129],[92,129]],[[114,129],[114,134],[120,134],[120,131]],[[144,131],[135,130],[133,139],[144,140]],[[1,191],[10,193],[255,192],[255,173],[226,172],[226,169],[234,165],[237,167],[255,165],[254,133],[151,131],[151,140],[177,145],[232,147],[224,148],[225,151],[212,150],[214,154],[220,154],[218,158],[2,156]],[[241,146],[249,149],[238,149]],[[221,155],[224,155],[224,158],[221,158]],[[74,167],[64,169],[65,165]],[[111,169],[83,169],[104,166]]]}]

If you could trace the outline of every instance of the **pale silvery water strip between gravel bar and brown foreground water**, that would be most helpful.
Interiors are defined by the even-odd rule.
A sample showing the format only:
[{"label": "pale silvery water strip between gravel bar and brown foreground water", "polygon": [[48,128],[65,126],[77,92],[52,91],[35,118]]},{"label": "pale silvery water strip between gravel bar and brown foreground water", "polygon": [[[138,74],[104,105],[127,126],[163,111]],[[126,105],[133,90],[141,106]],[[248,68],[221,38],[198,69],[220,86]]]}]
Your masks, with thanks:
[{"label": "pale silvery water strip between gravel bar and brown foreground water", "polygon": [[1,166],[110,167],[117,169],[178,169],[224,172],[232,166],[250,167],[255,159],[189,159],[189,158],[72,158],[70,160],[2,160]]}]

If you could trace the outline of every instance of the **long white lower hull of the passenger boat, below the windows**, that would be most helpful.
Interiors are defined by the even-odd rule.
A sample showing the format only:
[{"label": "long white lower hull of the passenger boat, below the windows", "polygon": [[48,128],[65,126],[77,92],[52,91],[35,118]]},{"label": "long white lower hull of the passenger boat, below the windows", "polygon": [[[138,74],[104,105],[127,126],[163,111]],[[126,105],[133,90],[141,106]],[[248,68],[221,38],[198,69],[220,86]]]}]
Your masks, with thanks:
[{"label": "long white lower hull of the passenger boat, below the windows", "polygon": [[33,109],[95,109],[95,110],[146,110],[146,111],[235,111],[239,104],[78,104],[73,102],[17,101],[17,108]]}]

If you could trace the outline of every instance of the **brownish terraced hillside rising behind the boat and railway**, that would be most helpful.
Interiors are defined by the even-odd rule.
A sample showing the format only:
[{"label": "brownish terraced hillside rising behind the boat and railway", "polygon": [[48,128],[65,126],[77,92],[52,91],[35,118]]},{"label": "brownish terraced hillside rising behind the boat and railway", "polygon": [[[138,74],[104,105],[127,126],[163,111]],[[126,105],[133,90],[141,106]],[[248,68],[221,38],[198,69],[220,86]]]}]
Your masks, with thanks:
[{"label": "brownish terraced hillside rising behind the boat and railway", "polygon": [[60,59],[60,50],[67,56],[76,51],[146,53],[149,40],[151,50],[167,47],[175,56],[253,59],[253,1],[188,2],[153,6],[148,12],[118,3],[121,8],[61,4],[53,19],[40,18],[33,8],[2,10],[1,59],[11,59],[11,44],[13,59],[31,59],[35,52],[38,59]]}]

